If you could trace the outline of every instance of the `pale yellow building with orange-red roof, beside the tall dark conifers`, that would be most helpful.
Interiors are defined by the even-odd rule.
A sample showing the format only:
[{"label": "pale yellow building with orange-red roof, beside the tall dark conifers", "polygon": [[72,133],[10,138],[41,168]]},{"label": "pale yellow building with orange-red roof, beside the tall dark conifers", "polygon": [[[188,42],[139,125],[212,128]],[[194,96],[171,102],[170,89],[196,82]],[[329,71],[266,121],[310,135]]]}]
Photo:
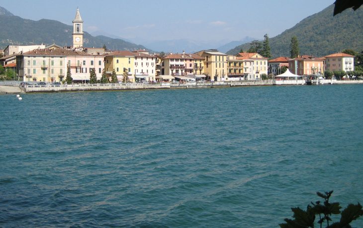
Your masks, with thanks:
[{"label": "pale yellow building with orange-red roof, beside the tall dark conifers", "polygon": [[258,53],[238,53],[237,57],[242,57],[244,59],[253,60],[253,78],[254,79],[261,79],[262,74],[268,74],[268,66],[267,66],[267,60],[268,58],[261,56]]}]

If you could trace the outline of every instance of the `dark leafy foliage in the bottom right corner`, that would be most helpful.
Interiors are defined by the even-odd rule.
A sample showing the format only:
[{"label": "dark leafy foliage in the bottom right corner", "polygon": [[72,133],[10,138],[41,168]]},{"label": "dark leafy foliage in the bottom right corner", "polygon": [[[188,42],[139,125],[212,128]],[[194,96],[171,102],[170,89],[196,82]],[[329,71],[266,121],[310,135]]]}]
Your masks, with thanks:
[{"label": "dark leafy foliage in the bottom right corner", "polygon": [[[340,209],[342,207],[338,202],[329,202],[332,193],[333,191],[325,192],[325,194],[317,192],[316,194],[323,198],[324,202],[316,201],[311,203],[311,205],[307,206],[306,211],[299,207],[291,208],[291,211],[294,213],[292,216],[294,219],[284,219],[286,223],[279,224],[280,228],[314,228],[316,215],[319,215],[318,224],[320,228],[322,228],[323,223],[327,224],[327,228],[351,228],[349,224],[363,215],[362,205],[360,203],[349,204],[341,212]],[[341,215],[341,218],[339,222],[329,225],[332,221],[332,214]]]}]

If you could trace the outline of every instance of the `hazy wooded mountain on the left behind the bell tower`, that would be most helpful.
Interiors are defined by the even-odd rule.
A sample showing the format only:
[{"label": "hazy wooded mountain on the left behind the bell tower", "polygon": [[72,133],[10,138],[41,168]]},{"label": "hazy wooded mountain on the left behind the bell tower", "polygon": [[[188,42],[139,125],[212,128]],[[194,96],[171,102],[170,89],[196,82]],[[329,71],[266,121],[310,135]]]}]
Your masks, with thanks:
[{"label": "hazy wooded mountain on the left behind the bell tower", "polygon": [[[0,48],[7,45],[35,45],[35,44],[57,44],[60,46],[71,46],[73,26],[63,24],[59,21],[41,19],[38,21],[23,19],[14,16],[5,8],[0,7]],[[103,47],[109,50],[134,51],[147,49],[142,45],[136,45],[121,39],[106,36],[93,37],[88,32],[83,35],[84,47]]]}]

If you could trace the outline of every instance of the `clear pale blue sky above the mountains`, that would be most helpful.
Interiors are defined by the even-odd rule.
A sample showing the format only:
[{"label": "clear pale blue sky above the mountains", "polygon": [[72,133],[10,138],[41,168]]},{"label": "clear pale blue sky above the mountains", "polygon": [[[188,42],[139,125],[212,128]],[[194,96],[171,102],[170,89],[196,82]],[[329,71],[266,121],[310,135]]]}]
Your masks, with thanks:
[{"label": "clear pale blue sky above the mountains", "polygon": [[84,31],[136,44],[189,39],[200,42],[263,40],[320,12],[335,0],[0,0],[25,19],[72,25],[77,7]]}]

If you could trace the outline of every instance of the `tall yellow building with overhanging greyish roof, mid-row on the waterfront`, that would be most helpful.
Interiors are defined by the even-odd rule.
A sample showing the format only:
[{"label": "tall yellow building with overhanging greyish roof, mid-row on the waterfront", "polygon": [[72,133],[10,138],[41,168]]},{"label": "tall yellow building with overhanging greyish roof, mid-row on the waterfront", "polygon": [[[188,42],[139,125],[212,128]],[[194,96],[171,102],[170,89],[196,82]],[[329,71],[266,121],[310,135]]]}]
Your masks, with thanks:
[{"label": "tall yellow building with overhanging greyish roof, mid-row on the waterfront", "polygon": [[213,81],[227,80],[227,55],[216,49],[203,50],[197,53],[204,58],[204,74]]}]

